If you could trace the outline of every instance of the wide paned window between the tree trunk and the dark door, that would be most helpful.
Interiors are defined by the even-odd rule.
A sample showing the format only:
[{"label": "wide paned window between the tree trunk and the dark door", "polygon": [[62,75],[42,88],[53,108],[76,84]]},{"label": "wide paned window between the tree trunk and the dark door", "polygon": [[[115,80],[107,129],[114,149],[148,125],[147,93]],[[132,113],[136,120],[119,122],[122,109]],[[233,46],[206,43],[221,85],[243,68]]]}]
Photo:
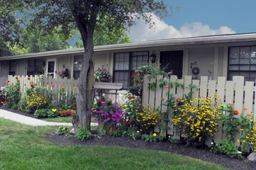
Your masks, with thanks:
[{"label": "wide paned window between the tree trunk and the dark door", "polygon": [[131,76],[141,65],[148,64],[148,51],[115,53],[114,55],[114,73],[113,82],[123,83],[123,88],[133,86]]}]

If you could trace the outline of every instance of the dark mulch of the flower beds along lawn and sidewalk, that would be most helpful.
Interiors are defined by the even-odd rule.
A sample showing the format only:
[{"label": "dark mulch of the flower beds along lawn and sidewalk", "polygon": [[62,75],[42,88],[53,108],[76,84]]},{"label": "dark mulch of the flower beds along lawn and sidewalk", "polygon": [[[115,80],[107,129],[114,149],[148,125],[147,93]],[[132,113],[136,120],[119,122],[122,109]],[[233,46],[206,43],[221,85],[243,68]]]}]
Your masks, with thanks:
[{"label": "dark mulch of the flower beds along lawn and sidewalk", "polygon": [[[33,117],[33,114],[28,114],[20,110],[12,110],[6,107],[0,107],[1,109],[12,111],[16,114],[22,114],[25,116]],[[187,147],[185,145],[172,144],[168,142],[149,142],[143,140],[133,140],[128,137],[112,137],[102,136],[101,138],[93,137],[86,141],[80,141],[73,135],[66,137],[65,135],[48,134],[45,137],[46,141],[53,142],[58,145],[106,145],[117,146],[126,148],[140,148],[150,149],[156,151],[168,151],[171,153],[185,155],[192,158],[197,158],[205,162],[213,162],[219,165],[223,165],[232,169],[256,169],[256,162],[248,162],[247,158],[244,160],[237,158],[230,158],[227,155],[217,155],[209,151],[209,149],[200,149],[194,147]]]}]

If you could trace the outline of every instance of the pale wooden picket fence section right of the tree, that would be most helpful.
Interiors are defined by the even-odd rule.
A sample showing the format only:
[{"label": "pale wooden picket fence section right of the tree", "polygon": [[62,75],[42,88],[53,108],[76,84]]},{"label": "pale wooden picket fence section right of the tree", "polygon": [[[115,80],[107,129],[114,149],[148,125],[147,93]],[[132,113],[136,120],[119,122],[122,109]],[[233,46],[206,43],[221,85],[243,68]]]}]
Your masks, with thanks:
[{"label": "pale wooden picket fence section right of the tree", "polygon": [[[143,103],[149,104],[152,106],[160,106],[161,111],[164,112],[167,110],[167,107],[162,105],[168,100],[166,93],[173,93],[174,97],[182,98],[184,94],[192,93],[192,98],[194,97],[212,97],[212,104],[216,104],[214,94],[217,96],[217,100],[220,100],[218,104],[234,104],[234,109],[239,111],[239,114],[236,117],[240,117],[244,107],[244,115],[253,113],[255,118],[256,104],[254,104],[256,97],[255,96],[255,87],[254,82],[246,81],[244,86],[244,77],[238,76],[236,78],[236,83],[234,81],[227,81],[226,77],[220,76],[218,80],[208,80],[207,76],[201,76],[201,80],[192,80],[192,76],[184,76],[183,79],[178,80],[177,76],[171,76],[170,78],[164,77],[164,80],[167,82],[171,81],[174,85],[173,88],[161,88],[159,87],[159,80],[163,79],[163,76],[158,75],[157,79],[147,78],[150,75],[144,76],[144,87],[143,87]],[[154,90],[149,89],[150,82],[156,83],[156,88]],[[182,87],[175,87],[175,82],[183,83],[184,89]],[[195,85],[198,89],[189,87],[189,84]],[[168,84],[166,85],[168,86]],[[161,100],[163,99],[164,100]],[[221,126],[221,125],[220,125]],[[154,131],[160,132],[159,128],[155,128]],[[173,124],[168,124],[168,134],[175,135]],[[237,134],[238,136],[239,134]],[[221,141],[225,138],[225,135],[220,130],[214,136],[215,141]],[[212,141],[206,141],[206,145],[210,145]]]}]

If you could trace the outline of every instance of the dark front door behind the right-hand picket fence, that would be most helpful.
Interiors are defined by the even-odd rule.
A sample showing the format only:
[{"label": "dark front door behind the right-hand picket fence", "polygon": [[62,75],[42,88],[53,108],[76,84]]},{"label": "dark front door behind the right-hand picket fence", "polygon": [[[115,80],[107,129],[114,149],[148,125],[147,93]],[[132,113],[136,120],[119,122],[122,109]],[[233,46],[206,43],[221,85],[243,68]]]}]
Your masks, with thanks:
[{"label": "dark front door behind the right-hand picket fence", "polygon": [[162,51],[160,53],[161,68],[165,72],[182,78],[183,51]]}]

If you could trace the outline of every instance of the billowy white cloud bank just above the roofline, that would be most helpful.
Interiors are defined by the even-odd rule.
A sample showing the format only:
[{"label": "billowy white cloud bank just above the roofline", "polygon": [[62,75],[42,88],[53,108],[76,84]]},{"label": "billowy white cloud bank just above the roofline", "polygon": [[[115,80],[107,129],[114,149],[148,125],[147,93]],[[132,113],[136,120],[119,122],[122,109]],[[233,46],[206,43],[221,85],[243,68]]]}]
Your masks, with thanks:
[{"label": "billowy white cloud bank just above the roofline", "polygon": [[192,36],[210,36],[220,34],[233,34],[234,30],[227,26],[221,26],[219,29],[211,29],[208,25],[202,25],[201,22],[186,23],[180,29],[169,26],[153,14],[155,25],[150,29],[143,19],[136,21],[136,25],[130,29],[130,37],[133,42],[147,41],[154,39],[173,39]]}]

